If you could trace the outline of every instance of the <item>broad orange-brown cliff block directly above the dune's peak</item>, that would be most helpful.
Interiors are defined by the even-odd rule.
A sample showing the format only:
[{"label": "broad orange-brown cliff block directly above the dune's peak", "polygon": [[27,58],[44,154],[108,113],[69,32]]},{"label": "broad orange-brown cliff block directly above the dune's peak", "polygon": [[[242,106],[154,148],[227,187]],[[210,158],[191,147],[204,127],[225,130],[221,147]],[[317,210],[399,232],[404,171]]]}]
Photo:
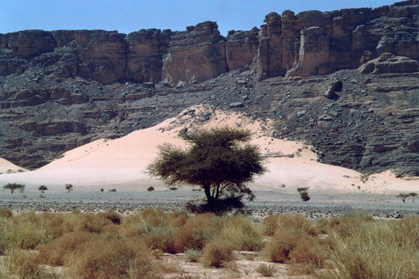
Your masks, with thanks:
[{"label": "broad orange-brown cliff block directly above the dune's peak", "polygon": [[172,36],[163,58],[163,80],[198,83],[227,72],[225,38],[217,23],[205,21]]}]

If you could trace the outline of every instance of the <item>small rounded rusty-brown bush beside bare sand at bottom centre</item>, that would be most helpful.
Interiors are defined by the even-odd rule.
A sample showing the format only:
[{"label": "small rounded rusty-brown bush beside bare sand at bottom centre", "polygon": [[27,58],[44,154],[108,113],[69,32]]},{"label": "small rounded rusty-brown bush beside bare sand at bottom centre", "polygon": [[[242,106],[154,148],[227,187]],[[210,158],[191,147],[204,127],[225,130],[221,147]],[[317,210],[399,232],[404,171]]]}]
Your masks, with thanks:
[{"label": "small rounded rusty-brown bush beside bare sand at bottom centre", "polygon": [[219,268],[229,261],[234,261],[232,244],[229,244],[227,241],[213,241],[205,245],[202,251],[202,263],[204,266]]}]

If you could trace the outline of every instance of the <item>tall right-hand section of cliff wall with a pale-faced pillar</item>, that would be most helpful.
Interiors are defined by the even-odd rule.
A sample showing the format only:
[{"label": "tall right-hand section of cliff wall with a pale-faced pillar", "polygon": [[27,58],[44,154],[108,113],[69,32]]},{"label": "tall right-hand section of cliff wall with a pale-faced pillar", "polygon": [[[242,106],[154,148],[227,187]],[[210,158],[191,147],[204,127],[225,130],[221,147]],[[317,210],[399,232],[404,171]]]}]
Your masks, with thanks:
[{"label": "tall right-hand section of cliff wall with a pale-faced pillar", "polygon": [[259,77],[325,75],[386,52],[418,60],[418,4],[270,13],[259,35]]}]

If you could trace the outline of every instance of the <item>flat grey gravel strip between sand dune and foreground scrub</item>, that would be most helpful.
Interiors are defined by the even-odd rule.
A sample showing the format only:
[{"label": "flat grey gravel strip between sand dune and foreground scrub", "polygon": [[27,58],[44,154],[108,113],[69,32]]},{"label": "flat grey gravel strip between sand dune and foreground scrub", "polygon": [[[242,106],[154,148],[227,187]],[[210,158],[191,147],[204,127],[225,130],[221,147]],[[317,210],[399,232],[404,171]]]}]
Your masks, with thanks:
[{"label": "flat grey gravel strip between sand dune and foreground scrub", "polygon": [[[269,214],[302,214],[310,219],[338,217],[342,214],[363,212],[381,218],[401,218],[419,214],[419,201],[403,203],[394,195],[356,193],[343,195],[310,195],[309,202],[300,201],[297,194],[255,192],[254,202],[246,201],[246,209],[256,216]],[[33,193],[0,193],[0,207],[15,212],[35,211],[82,212],[115,210],[131,213],[139,209],[161,208],[165,211],[183,209],[189,201],[202,200],[203,192],[156,191],[156,192],[63,192],[45,193],[43,197]]]}]

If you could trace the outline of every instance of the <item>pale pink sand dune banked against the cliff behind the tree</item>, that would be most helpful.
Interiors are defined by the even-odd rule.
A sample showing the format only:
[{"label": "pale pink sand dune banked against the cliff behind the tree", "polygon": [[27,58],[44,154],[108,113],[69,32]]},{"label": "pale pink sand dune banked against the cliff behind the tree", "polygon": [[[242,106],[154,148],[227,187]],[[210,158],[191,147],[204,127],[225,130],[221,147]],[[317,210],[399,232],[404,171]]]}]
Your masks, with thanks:
[{"label": "pale pink sand dune banked against the cliff behind the tree", "polygon": [[[207,107],[196,107],[195,114],[208,111]],[[211,111],[212,119],[202,122],[197,116],[180,114],[167,119],[157,126],[135,131],[123,138],[94,141],[65,153],[43,168],[32,172],[0,175],[0,185],[19,182],[35,190],[39,185],[47,185],[52,191],[62,191],[66,183],[71,183],[77,191],[98,190],[100,187],[118,190],[141,190],[149,186],[164,190],[165,186],[145,173],[146,166],[156,158],[158,146],[173,143],[185,146],[178,138],[180,128],[190,130],[201,127],[238,126],[254,132],[253,143],[260,146],[267,155],[269,172],[259,177],[251,185],[253,190],[295,192],[297,187],[310,187],[311,191],[330,192],[401,192],[413,191],[415,180],[401,180],[386,172],[371,175],[366,182],[354,170],[317,163],[317,155],[295,141],[271,138],[271,123],[255,121],[241,114],[226,111]],[[293,154],[294,158],[278,157]],[[0,159],[0,170],[17,170],[16,165]],[[280,185],[285,185],[280,187]],[[360,189],[358,188],[360,187]]]}]

